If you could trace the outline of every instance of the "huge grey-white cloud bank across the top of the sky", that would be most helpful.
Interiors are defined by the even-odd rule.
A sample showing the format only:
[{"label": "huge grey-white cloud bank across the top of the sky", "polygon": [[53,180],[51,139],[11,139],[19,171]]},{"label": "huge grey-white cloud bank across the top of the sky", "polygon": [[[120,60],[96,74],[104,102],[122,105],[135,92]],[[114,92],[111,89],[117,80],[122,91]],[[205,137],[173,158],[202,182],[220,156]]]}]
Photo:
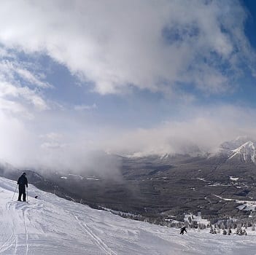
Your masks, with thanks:
[{"label": "huge grey-white cloud bank across the top of the sky", "polygon": [[182,82],[220,93],[241,62],[254,71],[246,17],[239,1],[8,0],[1,1],[0,42],[50,55],[101,94]]}]

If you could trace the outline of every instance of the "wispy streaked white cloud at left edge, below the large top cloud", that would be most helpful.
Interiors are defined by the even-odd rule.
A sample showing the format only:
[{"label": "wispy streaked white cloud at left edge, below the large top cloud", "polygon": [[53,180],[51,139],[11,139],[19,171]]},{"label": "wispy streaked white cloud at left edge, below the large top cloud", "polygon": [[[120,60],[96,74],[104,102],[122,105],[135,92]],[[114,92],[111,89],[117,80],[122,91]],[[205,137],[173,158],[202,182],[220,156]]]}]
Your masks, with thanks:
[{"label": "wispy streaked white cloud at left edge, below the large top cloud", "polygon": [[0,46],[0,109],[23,117],[33,117],[34,109],[44,111],[50,108],[43,98],[42,89],[52,88],[43,82],[42,72],[34,74],[36,63],[18,60],[15,51],[8,51]]}]

